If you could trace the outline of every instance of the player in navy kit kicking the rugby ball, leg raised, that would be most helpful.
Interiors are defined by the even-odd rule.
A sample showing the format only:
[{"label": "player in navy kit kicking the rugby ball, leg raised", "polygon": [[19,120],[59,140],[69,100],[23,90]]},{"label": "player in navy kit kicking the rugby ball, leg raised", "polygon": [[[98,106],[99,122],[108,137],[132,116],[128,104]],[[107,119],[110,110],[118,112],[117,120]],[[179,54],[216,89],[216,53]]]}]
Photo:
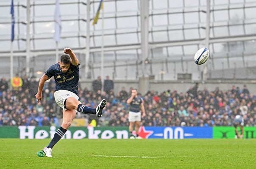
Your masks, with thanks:
[{"label": "player in navy kit kicking the rugby ball, leg raised", "polygon": [[62,55],[60,61],[45,71],[45,74],[39,81],[39,87],[36,94],[37,102],[42,99],[42,90],[45,85],[45,81],[54,76],[55,79],[55,92],[54,98],[58,106],[63,109],[63,121],[61,127],[56,131],[50,144],[47,145],[42,151],[39,151],[37,155],[51,157],[53,146],[61,139],[70,127],[72,120],[75,118],[76,112],[84,114],[96,114],[98,117],[102,115],[102,109],[105,107],[106,100],[100,101],[100,104],[93,109],[88,106],[84,106],[78,101],[78,80],[79,80],[79,61],[74,52],[70,48],[65,48],[64,53],[68,55]]}]

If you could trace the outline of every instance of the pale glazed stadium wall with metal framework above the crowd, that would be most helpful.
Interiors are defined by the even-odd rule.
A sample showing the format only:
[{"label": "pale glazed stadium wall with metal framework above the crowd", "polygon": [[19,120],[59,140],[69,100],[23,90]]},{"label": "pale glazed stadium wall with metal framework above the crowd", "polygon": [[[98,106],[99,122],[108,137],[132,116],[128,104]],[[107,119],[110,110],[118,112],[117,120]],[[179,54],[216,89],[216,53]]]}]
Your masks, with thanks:
[{"label": "pale glazed stadium wall with metal framework above the crowd", "polygon": [[[104,18],[100,14],[92,25],[99,3],[60,1],[58,55],[64,47],[74,49],[84,72],[81,78],[101,75],[102,50],[104,72],[113,79],[256,76],[250,73],[256,65],[255,0],[104,0]],[[14,73],[33,76],[55,62],[55,6],[53,0],[14,0]],[[10,8],[10,0],[0,2],[0,76],[7,77]],[[210,59],[198,66],[193,63],[195,52],[205,46],[210,49]]]}]

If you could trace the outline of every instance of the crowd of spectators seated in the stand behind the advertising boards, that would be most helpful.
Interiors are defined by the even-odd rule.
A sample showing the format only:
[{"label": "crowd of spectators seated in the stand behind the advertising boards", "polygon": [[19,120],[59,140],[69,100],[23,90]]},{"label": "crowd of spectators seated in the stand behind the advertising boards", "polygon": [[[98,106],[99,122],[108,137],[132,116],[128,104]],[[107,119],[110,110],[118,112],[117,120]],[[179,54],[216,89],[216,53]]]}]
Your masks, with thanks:
[{"label": "crowd of spectators seated in the stand behind the advertising boards", "polygon": [[[101,85],[101,84],[100,84]],[[10,90],[5,78],[0,80],[0,126],[38,125],[59,126],[61,110],[54,101],[54,79],[44,87],[42,102],[37,103],[35,94],[38,82],[22,78],[21,87]],[[114,86],[113,86],[114,87]],[[105,88],[105,87],[104,87]],[[130,91],[124,87],[119,93],[113,90],[88,90],[78,88],[80,101],[86,106],[96,107],[101,99],[107,100],[103,116],[77,113],[78,118],[97,120],[98,126],[128,126],[127,99]],[[148,91],[142,95],[146,116],[145,126],[231,126],[234,117],[245,114],[245,126],[256,126],[256,95],[250,94],[246,85],[243,89],[233,86],[230,90],[198,90],[198,84],[178,93],[176,90]],[[58,117],[58,118],[57,118]]]}]

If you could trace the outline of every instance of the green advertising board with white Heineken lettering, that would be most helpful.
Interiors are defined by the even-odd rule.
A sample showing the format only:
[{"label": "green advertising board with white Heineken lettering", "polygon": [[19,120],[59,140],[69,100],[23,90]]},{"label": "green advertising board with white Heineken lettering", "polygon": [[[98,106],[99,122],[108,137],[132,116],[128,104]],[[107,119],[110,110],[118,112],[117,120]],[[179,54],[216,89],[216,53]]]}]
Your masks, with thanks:
[{"label": "green advertising board with white Heineken lettering", "polygon": [[[53,138],[55,126],[0,127],[0,138],[46,139]],[[128,127],[70,127],[62,139],[128,139]]]}]

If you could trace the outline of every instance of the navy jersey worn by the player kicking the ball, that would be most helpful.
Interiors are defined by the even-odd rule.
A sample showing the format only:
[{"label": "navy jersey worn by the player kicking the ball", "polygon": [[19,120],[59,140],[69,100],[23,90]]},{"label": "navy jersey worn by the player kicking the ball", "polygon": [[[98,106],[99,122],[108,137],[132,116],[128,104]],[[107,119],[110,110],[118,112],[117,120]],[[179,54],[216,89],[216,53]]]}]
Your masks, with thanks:
[{"label": "navy jersey worn by the player kicking the ball", "polygon": [[74,66],[70,64],[70,68],[66,73],[61,71],[60,65],[56,63],[45,71],[45,75],[49,78],[54,76],[55,91],[68,90],[78,94],[78,80],[79,80],[79,65]]}]

